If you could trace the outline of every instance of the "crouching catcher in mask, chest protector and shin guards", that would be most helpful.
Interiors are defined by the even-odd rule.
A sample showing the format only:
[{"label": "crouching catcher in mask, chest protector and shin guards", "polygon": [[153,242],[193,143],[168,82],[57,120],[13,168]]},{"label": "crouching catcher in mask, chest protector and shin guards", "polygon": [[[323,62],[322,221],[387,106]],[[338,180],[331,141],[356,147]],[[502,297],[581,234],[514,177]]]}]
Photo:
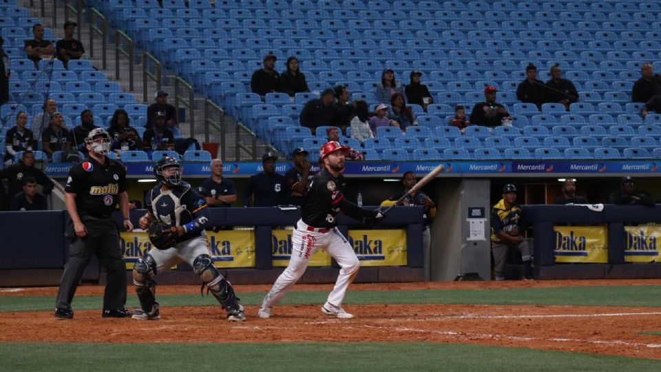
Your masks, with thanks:
[{"label": "crouching catcher in mask, chest protector and shin guards", "polygon": [[245,319],[243,307],[231,284],[213,266],[209,255],[209,242],[204,231],[210,217],[207,203],[191,185],[181,180],[181,174],[182,167],[175,158],[165,156],[154,165],[158,185],[147,194],[148,211],[138,221],[140,229],[149,227],[153,247],[138,258],[133,268],[133,282],[142,309],[132,318],[160,318],[154,296],[154,276],[179,262],[187,262],[227,310],[227,320],[241,322]]}]

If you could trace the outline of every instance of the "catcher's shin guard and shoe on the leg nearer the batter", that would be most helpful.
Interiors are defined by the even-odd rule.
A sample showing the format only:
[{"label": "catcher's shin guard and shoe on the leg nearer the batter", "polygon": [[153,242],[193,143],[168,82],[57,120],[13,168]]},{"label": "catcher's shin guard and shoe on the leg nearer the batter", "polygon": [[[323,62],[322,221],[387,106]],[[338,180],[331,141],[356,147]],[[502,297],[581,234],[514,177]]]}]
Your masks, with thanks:
[{"label": "catcher's shin guard and shoe on the leg nearer the batter", "polygon": [[193,272],[202,278],[209,292],[220,302],[220,306],[227,311],[229,320],[244,320],[243,307],[239,303],[232,285],[213,266],[209,255],[201,254],[195,258]]}]

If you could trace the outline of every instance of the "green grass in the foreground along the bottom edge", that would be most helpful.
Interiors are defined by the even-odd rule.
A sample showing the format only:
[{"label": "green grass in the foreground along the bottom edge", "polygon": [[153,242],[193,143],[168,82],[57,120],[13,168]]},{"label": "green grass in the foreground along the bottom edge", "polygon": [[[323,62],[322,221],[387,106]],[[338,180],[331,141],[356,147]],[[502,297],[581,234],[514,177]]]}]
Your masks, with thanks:
[{"label": "green grass in the foreground along the bottom edge", "polygon": [[[222,337],[222,335],[219,335]],[[6,371],[659,371],[661,361],[463,344],[6,343]]]}]

